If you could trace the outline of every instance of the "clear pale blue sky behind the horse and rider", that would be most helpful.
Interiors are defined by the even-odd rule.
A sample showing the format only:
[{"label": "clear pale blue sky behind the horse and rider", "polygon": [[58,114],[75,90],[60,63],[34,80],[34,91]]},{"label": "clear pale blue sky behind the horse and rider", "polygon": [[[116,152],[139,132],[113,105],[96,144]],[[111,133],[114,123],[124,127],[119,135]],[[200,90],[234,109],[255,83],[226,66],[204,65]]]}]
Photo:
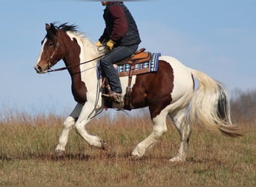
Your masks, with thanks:
[{"label": "clear pale blue sky behind the horse and rider", "polygon": [[[222,82],[232,94],[256,88],[255,0],[125,1],[139,48],[177,58]],[[103,33],[100,1],[0,0],[0,112],[70,112],[67,71],[39,75],[34,63],[45,23],[69,22],[95,42]],[[56,67],[63,67],[59,61]]]}]

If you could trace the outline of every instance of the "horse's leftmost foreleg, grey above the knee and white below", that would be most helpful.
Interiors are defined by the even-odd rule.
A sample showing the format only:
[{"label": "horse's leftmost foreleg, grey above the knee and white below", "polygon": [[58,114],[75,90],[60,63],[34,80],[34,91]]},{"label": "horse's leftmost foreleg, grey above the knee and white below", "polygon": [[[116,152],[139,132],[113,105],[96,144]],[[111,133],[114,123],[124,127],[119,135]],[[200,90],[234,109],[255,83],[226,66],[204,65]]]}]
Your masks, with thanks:
[{"label": "horse's leftmost foreleg, grey above the knee and white below", "polygon": [[70,133],[70,129],[76,122],[76,118],[79,117],[79,114],[82,110],[82,105],[77,104],[76,107],[73,109],[71,114],[67,117],[67,119],[64,121],[63,129],[60,135],[60,138],[58,139],[58,145],[55,148],[55,152],[57,156],[61,156],[65,152],[65,147],[67,145],[67,139],[68,135]]}]

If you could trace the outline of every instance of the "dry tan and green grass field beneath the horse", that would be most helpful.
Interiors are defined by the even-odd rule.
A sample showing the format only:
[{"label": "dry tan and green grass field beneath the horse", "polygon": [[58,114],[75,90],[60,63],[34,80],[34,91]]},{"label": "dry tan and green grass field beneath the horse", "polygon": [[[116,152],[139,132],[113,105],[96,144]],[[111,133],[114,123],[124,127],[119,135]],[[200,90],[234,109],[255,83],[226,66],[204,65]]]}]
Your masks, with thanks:
[{"label": "dry tan and green grass field beneath the horse", "polygon": [[[15,112],[14,112],[15,113]],[[94,119],[87,129],[104,138],[115,156],[90,147],[73,129],[67,155],[55,158],[64,117],[15,113],[0,119],[0,185],[256,185],[255,123],[244,136],[228,138],[193,126],[187,162],[171,163],[180,145],[171,120],[168,132],[141,159],[129,156],[152,130],[149,117],[124,114]],[[251,120],[255,121],[254,119]]]}]

